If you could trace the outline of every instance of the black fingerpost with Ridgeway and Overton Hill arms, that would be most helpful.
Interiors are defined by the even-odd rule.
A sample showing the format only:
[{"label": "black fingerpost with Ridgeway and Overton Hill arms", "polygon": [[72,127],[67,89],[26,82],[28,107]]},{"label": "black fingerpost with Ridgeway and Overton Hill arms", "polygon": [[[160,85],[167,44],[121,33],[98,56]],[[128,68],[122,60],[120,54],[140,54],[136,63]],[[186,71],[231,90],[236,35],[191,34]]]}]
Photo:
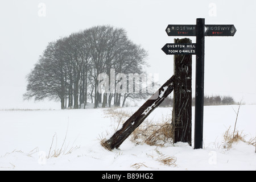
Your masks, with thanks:
[{"label": "black fingerpost with Ridgeway and Overton Hill arms", "polygon": [[196,44],[166,44],[162,50],[167,55],[196,55],[196,98],[194,148],[203,148],[204,115],[204,42],[205,36],[234,36],[233,24],[205,25],[204,18],[197,18],[196,25],[169,24],[168,36],[196,36]]}]

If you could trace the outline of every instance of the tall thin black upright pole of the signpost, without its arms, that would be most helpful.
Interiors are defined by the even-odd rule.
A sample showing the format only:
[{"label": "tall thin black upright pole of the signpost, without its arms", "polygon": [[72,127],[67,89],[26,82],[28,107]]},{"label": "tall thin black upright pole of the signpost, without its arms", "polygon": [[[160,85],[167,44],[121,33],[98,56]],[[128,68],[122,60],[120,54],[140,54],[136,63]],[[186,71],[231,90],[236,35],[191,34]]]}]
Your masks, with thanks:
[{"label": "tall thin black upright pole of the signpost, without its arms", "polygon": [[205,19],[196,19],[196,97],[195,97],[195,141],[194,148],[203,148],[204,115],[204,35]]}]

